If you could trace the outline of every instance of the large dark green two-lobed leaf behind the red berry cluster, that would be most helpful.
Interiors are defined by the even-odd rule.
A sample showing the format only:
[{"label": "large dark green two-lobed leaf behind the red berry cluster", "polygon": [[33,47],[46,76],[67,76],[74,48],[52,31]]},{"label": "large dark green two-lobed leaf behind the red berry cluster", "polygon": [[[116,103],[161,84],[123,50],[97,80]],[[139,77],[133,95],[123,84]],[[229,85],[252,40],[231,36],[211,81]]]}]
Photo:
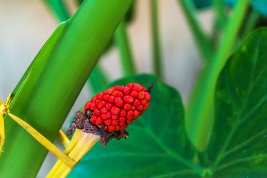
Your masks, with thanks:
[{"label": "large dark green two-lobed leaf behind the red berry cluster", "polygon": [[112,83],[155,82],[151,106],[127,140],[99,144],[70,178],[244,178],[267,175],[267,29],[250,34],[217,81],[215,125],[204,153],[190,145],[179,94],[141,75]]}]

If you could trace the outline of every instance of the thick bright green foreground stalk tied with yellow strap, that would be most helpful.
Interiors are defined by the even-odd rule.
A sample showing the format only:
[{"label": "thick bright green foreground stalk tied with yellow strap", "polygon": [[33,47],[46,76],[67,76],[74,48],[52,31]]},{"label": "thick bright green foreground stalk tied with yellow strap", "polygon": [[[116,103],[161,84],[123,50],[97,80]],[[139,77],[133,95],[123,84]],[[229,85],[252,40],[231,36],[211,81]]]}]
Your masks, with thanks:
[{"label": "thick bright green foreground stalk tied with yellow strap", "polygon": [[[132,1],[85,0],[36,56],[15,89],[11,113],[53,141]],[[9,117],[5,129],[0,177],[36,177],[48,151]]]}]

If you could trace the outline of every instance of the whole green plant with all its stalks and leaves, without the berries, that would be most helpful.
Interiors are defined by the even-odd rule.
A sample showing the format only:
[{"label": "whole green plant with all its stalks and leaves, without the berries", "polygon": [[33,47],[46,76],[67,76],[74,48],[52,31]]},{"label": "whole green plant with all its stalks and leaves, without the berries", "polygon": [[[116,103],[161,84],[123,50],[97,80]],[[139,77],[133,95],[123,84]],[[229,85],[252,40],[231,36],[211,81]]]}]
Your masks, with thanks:
[{"label": "whole green plant with all its stalks and leaves, without the berries", "polygon": [[[13,92],[10,111],[53,141],[117,26],[114,43],[120,49],[124,75],[134,74],[126,19],[118,25],[132,1],[85,0],[37,54]],[[216,9],[214,32],[208,36],[197,19],[194,2],[178,1],[205,64],[188,109],[184,111],[176,89],[163,82],[157,1],[151,0],[156,77],[128,76],[109,84],[132,82],[148,86],[154,82],[150,107],[127,128],[131,133],[127,140],[111,141],[106,148],[94,146],[69,177],[267,175],[267,28],[250,32],[257,25],[255,19],[266,14],[266,9],[259,10],[259,4],[264,2],[255,0],[250,5],[249,0],[239,0],[229,15],[222,1],[196,1],[204,4],[198,7],[214,4]],[[63,5],[51,5],[62,20],[67,18]],[[96,82],[91,83],[97,86],[96,90],[107,88],[103,86],[107,80],[100,66],[95,70],[90,78]],[[35,177],[47,150],[8,117],[5,127],[0,176]],[[100,169],[103,166],[104,171]]]}]

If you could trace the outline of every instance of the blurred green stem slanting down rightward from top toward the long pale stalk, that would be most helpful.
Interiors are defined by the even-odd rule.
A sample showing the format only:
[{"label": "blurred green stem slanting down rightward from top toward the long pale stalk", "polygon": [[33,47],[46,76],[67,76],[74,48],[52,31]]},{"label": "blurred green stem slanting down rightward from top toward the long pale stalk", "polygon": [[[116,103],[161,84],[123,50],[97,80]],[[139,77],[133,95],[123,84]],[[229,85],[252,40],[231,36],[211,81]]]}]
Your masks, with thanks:
[{"label": "blurred green stem slanting down rightward from top toward the long pale stalk", "polygon": [[184,15],[191,27],[198,48],[201,52],[202,58],[205,61],[210,61],[212,56],[212,49],[209,40],[203,32],[200,23],[197,19],[197,12],[192,0],[178,0],[183,8]]}]

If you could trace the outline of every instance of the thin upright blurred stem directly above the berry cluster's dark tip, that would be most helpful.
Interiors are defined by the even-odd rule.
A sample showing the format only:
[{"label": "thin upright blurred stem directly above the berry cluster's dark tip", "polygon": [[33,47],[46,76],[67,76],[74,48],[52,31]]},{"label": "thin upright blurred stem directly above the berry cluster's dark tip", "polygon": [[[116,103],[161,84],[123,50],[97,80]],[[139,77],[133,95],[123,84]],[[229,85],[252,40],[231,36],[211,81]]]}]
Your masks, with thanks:
[{"label": "thin upright blurred stem directly above the berry cluster's dark tip", "polygon": [[159,39],[159,24],[158,24],[158,0],[150,0],[151,7],[151,23],[152,23],[152,51],[153,51],[153,66],[157,77],[162,78],[162,59]]}]

